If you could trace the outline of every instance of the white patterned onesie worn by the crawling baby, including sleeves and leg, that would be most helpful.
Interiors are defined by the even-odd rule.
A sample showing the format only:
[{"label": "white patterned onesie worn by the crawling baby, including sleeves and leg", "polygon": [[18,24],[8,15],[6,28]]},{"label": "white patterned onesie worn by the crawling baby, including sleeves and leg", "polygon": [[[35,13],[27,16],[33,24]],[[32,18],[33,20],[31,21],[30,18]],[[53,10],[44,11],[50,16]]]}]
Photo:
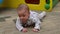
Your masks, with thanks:
[{"label": "white patterned onesie worn by the crawling baby, including sleeves and leg", "polygon": [[[27,24],[28,25],[31,25],[33,23],[35,23],[35,29],[39,29],[40,30],[40,24],[41,24],[41,21],[40,19],[42,19],[44,16],[46,15],[46,12],[43,11],[42,13],[37,13],[37,12],[34,12],[34,11],[30,11],[30,17],[29,19],[27,20]],[[24,27],[22,26],[21,24],[21,20],[20,18],[18,17],[17,18],[17,21],[16,21],[16,28],[21,31]]]}]

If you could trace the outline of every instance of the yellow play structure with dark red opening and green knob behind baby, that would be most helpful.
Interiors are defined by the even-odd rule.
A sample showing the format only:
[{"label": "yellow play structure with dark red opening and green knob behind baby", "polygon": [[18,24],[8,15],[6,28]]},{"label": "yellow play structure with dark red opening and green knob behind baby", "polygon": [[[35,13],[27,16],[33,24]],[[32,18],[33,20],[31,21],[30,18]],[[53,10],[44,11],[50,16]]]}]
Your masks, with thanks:
[{"label": "yellow play structure with dark red opening and green knob behind baby", "polygon": [[27,4],[30,10],[51,11],[59,0],[3,0],[2,6],[17,8],[19,4]]}]

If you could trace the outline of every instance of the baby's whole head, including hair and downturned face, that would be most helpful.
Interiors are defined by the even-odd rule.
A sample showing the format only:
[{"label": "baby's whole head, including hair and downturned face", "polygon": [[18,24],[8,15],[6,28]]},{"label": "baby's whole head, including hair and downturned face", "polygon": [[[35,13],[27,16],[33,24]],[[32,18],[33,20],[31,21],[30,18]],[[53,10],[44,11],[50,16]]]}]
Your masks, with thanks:
[{"label": "baby's whole head, including hair and downturned face", "polygon": [[17,12],[22,23],[26,23],[30,16],[29,7],[26,4],[21,4],[17,8]]}]

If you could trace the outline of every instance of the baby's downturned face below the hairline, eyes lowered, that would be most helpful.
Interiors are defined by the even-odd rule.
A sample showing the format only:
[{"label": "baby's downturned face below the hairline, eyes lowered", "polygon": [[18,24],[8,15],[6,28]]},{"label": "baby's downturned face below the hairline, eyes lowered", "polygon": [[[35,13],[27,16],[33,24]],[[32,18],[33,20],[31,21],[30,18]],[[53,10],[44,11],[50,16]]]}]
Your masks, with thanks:
[{"label": "baby's downturned face below the hairline, eyes lowered", "polygon": [[22,23],[27,23],[27,20],[29,18],[29,11],[28,10],[20,10],[18,11],[18,15]]}]

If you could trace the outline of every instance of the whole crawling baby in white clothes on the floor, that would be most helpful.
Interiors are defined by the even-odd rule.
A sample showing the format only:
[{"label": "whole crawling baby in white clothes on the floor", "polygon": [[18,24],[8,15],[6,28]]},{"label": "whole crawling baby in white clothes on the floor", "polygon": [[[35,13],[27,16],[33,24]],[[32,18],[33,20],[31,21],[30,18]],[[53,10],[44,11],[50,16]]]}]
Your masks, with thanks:
[{"label": "whole crawling baby in white clothes on the floor", "polygon": [[30,11],[26,4],[21,4],[17,8],[17,13],[19,17],[16,20],[16,28],[19,31],[27,32],[28,30],[26,27],[32,24],[35,24],[32,31],[40,31],[41,19],[46,15],[45,11],[38,14],[37,12]]}]

